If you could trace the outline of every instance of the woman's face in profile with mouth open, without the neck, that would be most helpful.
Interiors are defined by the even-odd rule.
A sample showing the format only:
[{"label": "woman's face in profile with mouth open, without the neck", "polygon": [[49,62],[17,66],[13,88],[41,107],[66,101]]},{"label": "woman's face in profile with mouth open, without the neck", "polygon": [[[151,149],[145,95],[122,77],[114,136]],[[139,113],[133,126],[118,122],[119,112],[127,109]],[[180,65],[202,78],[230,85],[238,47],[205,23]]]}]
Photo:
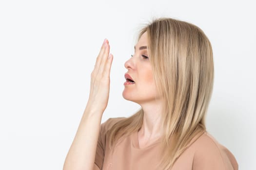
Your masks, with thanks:
[{"label": "woman's face in profile with mouth open, without the neck", "polygon": [[147,32],[141,35],[135,46],[134,55],[125,62],[124,66],[135,84],[124,85],[122,96],[124,99],[143,104],[155,101],[156,86],[149,62],[147,47]]}]

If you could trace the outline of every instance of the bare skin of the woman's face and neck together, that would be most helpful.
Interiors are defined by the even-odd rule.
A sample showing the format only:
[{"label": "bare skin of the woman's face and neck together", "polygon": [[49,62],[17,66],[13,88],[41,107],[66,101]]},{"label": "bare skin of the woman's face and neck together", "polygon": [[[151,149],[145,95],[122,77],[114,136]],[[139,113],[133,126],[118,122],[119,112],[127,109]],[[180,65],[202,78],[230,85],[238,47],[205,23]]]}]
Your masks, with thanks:
[{"label": "bare skin of the woman's face and neck together", "polygon": [[147,46],[147,32],[140,37],[135,54],[124,64],[135,84],[124,85],[122,96],[126,100],[138,103],[144,111],[143,124],[138,131],[139,147],[144,148],[162,135],[159,119],[162,101],[156,90],[150,61],[142,56],[149,57],[148,51],[139,50],[141,46]]}]

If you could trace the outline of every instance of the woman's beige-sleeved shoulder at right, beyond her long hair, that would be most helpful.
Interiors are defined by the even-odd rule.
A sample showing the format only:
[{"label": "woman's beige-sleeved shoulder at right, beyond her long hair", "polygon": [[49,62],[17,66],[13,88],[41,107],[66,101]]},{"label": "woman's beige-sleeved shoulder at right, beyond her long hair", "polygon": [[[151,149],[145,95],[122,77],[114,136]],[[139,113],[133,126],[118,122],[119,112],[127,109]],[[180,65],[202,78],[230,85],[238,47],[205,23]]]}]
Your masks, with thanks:
[{"label": "woman's beige-sleeved shoulder at right, beyond her long hair", "polygon": [[235,156],[218,141],[205,132],[191,145],[195,149],[193,167],[209,170],[238,170]]}]

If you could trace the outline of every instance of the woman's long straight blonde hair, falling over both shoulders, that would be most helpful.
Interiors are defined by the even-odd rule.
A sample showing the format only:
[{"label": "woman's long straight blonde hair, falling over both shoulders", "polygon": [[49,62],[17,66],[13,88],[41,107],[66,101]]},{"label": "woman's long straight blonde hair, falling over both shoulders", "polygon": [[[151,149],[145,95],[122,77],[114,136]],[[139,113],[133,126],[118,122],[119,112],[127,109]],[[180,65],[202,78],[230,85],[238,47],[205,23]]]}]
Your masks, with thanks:
[{"label": "woman's long straight blonde hair, falling over both shoulders", "polygon": [[[206,131],[205,115],[214,82],[213,52],[203,31],[185,21],[160,17],[141,28],[138,39],[145,32],[154,81],[164,101],[162,159],[158,166],[167,170],[192,139]],[[108,131],[109,147],[114,147],[121,137],[138,131],[142,122],[140,108],[114,124]]]}]

